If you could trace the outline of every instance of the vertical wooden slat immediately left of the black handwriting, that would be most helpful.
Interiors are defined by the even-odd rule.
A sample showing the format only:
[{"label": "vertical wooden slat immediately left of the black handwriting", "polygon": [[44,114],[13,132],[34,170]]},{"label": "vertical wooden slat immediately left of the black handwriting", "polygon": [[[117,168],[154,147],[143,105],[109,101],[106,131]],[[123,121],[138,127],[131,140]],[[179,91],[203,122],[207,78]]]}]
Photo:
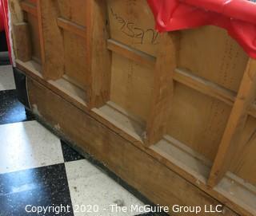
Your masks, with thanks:
[{"label": "vertical wooden slat immediately left of the black handwriting", "polygon": [[106,1],[87,1],[86,44],[89,73],[89,107],[99,108],[110,100],[110,51],[107,49]]}]

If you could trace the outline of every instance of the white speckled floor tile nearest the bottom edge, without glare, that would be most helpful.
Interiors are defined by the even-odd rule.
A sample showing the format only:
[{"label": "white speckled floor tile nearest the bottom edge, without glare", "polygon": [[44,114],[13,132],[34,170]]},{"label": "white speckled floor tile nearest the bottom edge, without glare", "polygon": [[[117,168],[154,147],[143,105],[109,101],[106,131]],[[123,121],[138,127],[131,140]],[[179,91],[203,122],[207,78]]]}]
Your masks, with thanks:
[{"label": "white speckled floor tile nearest the bottom edge, without glare", "polygon": [[[130,194],[123,187],[115,183],[107,175],[91,165],[85,159],[65,163],[66,174],[70,187],[70,194],[74,211],[76,206],[81,207],[92,205],[98,206],[98,212],[85,214],[81,210],[75,212],[75,216],[82,215],[136,215],[138,212],[131,210],[132,205],[143,206],[134,195]],[[111,210],[110,205],[126,206],[127,212],[116,212]],[[87,206],[87,210],[88,206]]]}]

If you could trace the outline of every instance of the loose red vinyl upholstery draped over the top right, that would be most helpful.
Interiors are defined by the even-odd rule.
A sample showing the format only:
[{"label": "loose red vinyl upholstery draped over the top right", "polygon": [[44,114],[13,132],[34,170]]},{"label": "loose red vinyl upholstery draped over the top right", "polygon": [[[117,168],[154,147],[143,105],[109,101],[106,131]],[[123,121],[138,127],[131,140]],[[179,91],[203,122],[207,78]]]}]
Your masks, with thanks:
[{"label": "loose red vinyl upholstery draped over the top right", "polygon": [[256,58],[256,3],[249,0],[148,0],[159,32],[213,25]]}]

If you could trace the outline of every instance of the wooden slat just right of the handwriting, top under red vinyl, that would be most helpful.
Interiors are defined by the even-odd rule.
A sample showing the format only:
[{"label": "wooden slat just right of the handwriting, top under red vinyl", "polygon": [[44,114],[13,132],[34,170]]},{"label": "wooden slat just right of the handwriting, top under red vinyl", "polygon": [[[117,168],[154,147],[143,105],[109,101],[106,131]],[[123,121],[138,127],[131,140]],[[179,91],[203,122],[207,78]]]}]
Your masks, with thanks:
[{"label": "wooden slat just right of the handwriting, top under red vinyl", "polygon": [[168,110],[174,91],[174,69],[177,64],[178,35],[162,33],[154,73],[153,99],[146,125],[146,145],[157,143],[166,134]]}]

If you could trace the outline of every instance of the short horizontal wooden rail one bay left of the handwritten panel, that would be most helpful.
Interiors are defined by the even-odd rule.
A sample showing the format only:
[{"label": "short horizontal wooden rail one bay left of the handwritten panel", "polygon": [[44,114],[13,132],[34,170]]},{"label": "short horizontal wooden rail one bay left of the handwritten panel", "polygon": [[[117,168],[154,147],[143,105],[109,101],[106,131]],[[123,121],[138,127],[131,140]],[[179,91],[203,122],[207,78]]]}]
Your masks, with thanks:
[{"label": "short horizontal wooden rail one bay left of the handwritten panel", "polygon": [[58,27],[70,31],[71,33],[75,33],[81,37],[86,37],[86,27],[80,26],[74,22],[70,22],[65,18],[57,19]]}]

